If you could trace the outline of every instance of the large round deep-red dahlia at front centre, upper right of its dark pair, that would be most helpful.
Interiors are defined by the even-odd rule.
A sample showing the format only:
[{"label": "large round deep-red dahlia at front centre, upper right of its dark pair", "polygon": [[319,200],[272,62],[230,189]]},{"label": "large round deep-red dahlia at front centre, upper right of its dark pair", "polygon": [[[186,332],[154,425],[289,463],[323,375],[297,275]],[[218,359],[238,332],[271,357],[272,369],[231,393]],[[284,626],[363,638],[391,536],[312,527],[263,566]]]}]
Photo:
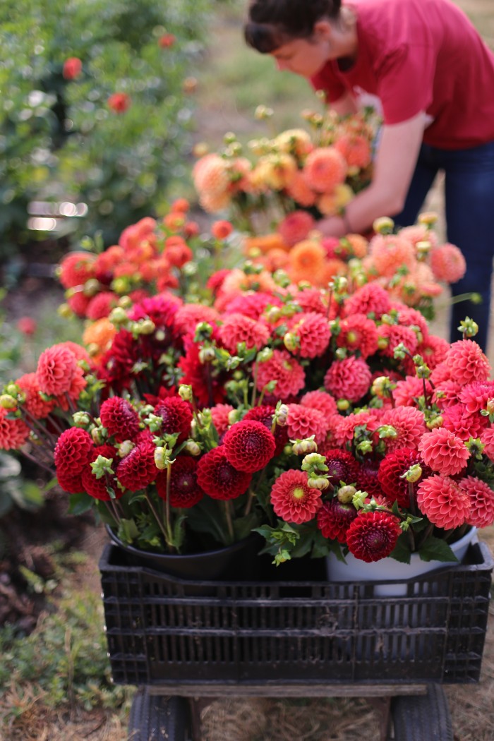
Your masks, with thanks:
[{"label": "large round deep-red dahlia at front centre, upper right of its dark pair", "polygon": [[228,461],[238,471],[254,473],[270,462],[275,454],[275,438],[262,422],[252,419],[236,422],[223,439]]}]

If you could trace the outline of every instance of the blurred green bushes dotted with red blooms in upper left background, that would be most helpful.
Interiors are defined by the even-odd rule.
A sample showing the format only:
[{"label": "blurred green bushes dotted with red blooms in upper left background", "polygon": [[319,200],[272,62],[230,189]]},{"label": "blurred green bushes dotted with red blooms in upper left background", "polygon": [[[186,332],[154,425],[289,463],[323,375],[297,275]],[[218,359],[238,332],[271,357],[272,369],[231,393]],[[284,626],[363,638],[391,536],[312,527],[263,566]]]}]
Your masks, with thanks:
[{"label": "blurred green bushes dotted with red blooms in upper left background", "polygon": [[0,259],[32,236],[33,200],[86,203],[73,237],[101,231],[106,244],[160,212],[186,172],[187,71],[214,4],[0,4]]}]

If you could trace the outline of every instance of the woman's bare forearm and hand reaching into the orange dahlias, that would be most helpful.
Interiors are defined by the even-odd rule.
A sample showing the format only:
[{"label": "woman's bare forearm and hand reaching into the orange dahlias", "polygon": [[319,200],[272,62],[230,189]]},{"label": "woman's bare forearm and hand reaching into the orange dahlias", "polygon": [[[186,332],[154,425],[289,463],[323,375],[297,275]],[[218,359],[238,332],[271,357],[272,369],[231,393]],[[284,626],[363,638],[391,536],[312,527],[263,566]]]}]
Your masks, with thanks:
[{"label": "woman's bare forearm and hand reaching into the orange dahlias", "polygon": [[349,231],[367,231],[378,216],[393,216],[401,211],[415,170],[424,125],[425,116],[421,112],[400,124],[383,126],[371,184],[349,203],[345,219],[331,216],[318,222],[323,234],[344,236]]}]

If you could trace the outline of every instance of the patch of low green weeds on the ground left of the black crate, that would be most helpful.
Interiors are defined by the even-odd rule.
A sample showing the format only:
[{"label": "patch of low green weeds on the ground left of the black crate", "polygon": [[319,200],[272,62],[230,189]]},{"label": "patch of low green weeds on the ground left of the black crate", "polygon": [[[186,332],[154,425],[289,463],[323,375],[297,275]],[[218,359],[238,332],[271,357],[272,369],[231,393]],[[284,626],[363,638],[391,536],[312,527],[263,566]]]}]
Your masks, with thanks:
[{"label": "patch of low green weeds on the ground left of the black crate", "polygon": [[[0,696],[2,688],[31,685],[48,707],[119,708],[126,700],[126,689],[111,684],[101,599],[92,592],[66,594],[28,637],[4,626],[0,652]],[[14,711],[0,703],[0,721],[7,725]]]}]

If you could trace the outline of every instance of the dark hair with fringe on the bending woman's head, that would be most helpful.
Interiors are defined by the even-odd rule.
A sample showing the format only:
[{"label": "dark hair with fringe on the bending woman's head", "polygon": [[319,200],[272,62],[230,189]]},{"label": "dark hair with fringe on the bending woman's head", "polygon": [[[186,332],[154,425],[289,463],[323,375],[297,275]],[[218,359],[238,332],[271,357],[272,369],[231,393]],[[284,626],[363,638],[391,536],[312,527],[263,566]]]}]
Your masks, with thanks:
[{"label": "dark hair with fringe on the bending woman's head", "polygon": [[244,39],[262,54],[290,39],[308,39],[321,18],[336,20],[341,0],[251,0]]}]

